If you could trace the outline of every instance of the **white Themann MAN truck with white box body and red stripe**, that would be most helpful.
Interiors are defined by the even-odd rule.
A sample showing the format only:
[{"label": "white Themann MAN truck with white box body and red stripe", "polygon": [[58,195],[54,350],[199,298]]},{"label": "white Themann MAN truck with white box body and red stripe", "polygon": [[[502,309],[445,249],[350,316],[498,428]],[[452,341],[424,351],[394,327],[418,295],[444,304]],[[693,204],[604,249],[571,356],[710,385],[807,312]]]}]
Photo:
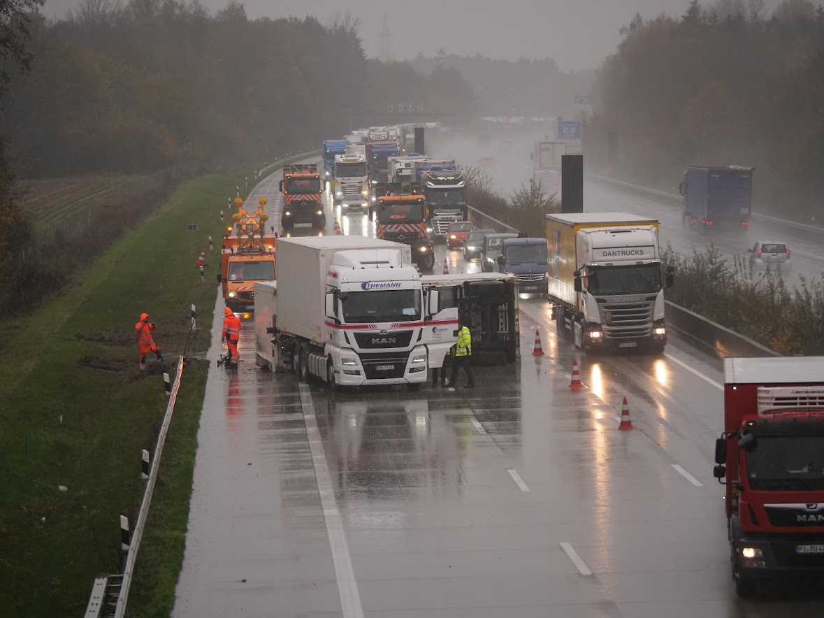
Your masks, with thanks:
[{"label": "white Themann MAN truck with white box body and red stripe", "polygon": [[276,252],[278,281],[255,285],[259,365],[332,388],[426,381],[428,307],[409,246],[306,236],[279,238]]}]

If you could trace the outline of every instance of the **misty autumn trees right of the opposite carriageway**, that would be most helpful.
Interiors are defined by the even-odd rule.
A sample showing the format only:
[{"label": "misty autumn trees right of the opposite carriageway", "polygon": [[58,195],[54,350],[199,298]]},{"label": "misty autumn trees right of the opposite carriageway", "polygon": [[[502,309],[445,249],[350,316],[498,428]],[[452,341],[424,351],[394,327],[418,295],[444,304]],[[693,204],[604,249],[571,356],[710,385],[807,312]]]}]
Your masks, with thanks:
[{"label": "misty autumn trees right of the opposite carriageway", "polygon": [[680,17],[636,14],[596,79],[584,130],[593,165],[672,189],[689,165],[756,166],[758,207],[809,220],[824,193],[824,8],[692,0]]}]

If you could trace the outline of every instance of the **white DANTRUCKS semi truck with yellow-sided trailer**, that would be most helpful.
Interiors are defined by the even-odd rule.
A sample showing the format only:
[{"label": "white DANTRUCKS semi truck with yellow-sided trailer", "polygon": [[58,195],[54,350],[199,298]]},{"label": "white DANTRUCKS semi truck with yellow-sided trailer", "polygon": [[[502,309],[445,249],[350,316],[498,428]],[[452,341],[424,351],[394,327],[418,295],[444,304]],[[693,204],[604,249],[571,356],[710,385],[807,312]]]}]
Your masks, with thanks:
[{"label": "white DANTRUCKS semi truck with yellow-sided trailer", "polygon": [[667,344],[658,220],[629,213],[547,214],[552,317],[575,348],[662,352]]}]

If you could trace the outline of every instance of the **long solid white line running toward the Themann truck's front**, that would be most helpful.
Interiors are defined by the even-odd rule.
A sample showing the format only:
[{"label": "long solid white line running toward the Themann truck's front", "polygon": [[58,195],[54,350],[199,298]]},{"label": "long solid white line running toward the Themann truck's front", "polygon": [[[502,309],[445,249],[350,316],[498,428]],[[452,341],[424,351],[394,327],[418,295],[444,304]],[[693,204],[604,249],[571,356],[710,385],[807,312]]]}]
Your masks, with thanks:
[{"label": "long solid white line running toward the Themann truck's front", "polygon": [[355,580],[352,558],[349,556],[349,545],[344,535],[344,522],[340,517],[338,504],[335,502],[335,490],[332,489],[332,477],[321,442],[321,432],[317,428],[315,406],[311,403],[311,393],[305,384],[298,385],[303,403],[303,419],[307,426],[309,450],[312,466],[315,466],[317,491],[321,494],[323,517],[326,521],[326,533],[329,535],[329,545],[332,548],[332,562],[335,563],[335,576],[338,578],[338,592],[340,606],[344,611],[344,618],[363,618],[363,607],[358,593],[358,582]]}]

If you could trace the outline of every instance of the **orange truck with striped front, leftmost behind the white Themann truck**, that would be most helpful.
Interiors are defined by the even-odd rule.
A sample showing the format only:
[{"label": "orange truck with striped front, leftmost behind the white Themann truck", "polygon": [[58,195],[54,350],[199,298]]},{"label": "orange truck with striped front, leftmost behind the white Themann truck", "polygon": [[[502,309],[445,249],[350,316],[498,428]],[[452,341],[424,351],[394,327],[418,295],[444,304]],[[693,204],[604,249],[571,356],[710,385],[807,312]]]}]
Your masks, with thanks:
[{"label": "orange truck with striped front, leftmost behind the white Themann truck", "polygon": [[280,226],[291,230],[295,223],[311,223],[322,230],[326,227],[321,193],[323,185],[316,163],[288,163],[283,166],[280,192],[283,194],[283,210]]}]

